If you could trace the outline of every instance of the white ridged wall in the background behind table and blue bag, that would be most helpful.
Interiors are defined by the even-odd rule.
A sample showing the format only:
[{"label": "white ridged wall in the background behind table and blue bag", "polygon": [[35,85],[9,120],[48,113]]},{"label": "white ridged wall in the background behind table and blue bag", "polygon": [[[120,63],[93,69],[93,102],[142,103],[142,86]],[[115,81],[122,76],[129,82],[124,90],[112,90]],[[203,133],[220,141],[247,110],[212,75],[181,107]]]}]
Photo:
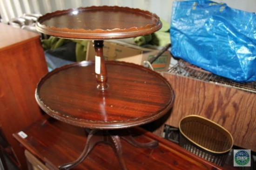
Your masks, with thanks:
[{"label": "white ridged wall in the background behind table and blue bag", "polygon": [[[170,23],[174,0],[0,0],[0,15],[3,22],[23,13],[50,13],[56,10],[80,6],[128,6],[156,13]],[[214,0],[248,12],[256,12],[256,0]]]}]

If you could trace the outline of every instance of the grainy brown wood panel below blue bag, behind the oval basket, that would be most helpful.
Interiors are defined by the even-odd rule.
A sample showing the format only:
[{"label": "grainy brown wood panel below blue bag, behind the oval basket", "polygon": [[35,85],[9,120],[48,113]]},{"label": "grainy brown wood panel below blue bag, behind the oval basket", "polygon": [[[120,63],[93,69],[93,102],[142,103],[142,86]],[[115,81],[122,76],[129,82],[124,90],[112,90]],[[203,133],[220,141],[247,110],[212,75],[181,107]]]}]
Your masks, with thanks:
[{"label": "grainy brown wood panel below blue bag, behind the oval basket", "polygon": [[166,121],[178,127],[182,117],[201,115],[226,128],[234,145],[256,151],[256,94],[188,77],[162,73],[175,91],[175,103]]}]

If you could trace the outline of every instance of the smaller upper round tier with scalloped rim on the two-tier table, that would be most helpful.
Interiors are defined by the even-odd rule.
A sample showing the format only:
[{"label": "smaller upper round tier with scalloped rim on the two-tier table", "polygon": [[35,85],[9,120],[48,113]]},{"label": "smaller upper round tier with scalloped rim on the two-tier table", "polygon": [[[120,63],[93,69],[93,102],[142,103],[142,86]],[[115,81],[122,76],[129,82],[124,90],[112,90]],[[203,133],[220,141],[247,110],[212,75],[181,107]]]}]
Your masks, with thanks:
[{"label": "smaller upper round tier with scalloped rim on the two-tier table", "polygon": [[113,39],[146,35],[162,22],[148,11],[120,6],[90,6],[56,11],[40,17],[38,31],[62,38]]}]

